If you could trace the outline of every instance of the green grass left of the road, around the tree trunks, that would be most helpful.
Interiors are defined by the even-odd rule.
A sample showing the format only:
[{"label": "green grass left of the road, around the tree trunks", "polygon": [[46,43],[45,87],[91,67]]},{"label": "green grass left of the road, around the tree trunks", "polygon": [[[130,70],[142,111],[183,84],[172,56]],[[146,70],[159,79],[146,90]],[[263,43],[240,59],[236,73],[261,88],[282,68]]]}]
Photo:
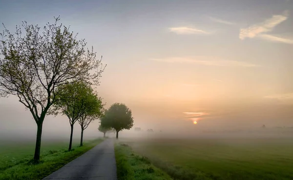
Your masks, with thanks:
[{"label": "green grass left of the road, around the tree trunks", "polygon": [[34,144],[1,144],[0,180],[41,180],[102,141],[102,139],[87,141],[82,147],[76,143],[69,152],[67,142],[44,142],[41,149],[41,163],[36,165],[31,163]]}]

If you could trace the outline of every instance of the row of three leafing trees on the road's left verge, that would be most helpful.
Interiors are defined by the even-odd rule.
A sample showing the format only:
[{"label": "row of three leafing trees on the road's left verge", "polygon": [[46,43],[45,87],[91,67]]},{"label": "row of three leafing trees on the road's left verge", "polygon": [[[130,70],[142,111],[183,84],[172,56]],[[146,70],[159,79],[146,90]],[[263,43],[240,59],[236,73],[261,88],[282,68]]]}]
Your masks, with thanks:
[{"label": "row of three leafing trees on the road's left verge", "polygon": [[42,127],[48,114],[62,112],[69,118],[71,142],[76,121],[83,132],[102,113],[101,99],[90,89],[100,83],[105,69],[102,58],[96,59],[93,48],[86,48],[85,40],[77,39],[59,20],[42,29],[24,21],[15,33],[5,26],[0,33],[0,96],[18,97],[36,122],[35,162],[40,160]]}]

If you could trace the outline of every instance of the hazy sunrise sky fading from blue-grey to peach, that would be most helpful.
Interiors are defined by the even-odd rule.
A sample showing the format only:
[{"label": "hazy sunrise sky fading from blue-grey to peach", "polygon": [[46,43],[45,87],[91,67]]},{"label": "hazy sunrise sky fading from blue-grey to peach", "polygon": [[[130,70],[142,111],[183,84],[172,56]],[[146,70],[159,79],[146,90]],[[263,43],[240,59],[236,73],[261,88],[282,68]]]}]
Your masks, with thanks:
[{"label": "hazy sunrise sky fading from blue-grey to peach", "polygon": [[[134,127],[293,126],[293,0],[0,0],[13,32],[59,15],[103,55],[99,95],[125,103]],[[2,133],[35,135],[17,98],[0,98],[0,115]],[[44,134],[69,130],[64,116],[44,121]]]}]

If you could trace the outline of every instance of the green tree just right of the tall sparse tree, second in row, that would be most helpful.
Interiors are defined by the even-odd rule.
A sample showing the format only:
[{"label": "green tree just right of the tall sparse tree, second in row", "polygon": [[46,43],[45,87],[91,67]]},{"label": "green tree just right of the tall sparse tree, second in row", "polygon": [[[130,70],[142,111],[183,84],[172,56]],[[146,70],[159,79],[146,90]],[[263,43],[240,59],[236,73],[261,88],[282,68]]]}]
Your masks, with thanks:
[{"label": "green tree just right of the tall sparse tree, second in row", "polygon": [[[69,119],[69,124],[71,127],[68,151],[70,151],[72,147],[73,126],[75,122],[82,117],[82,115],[86,115],[86,110],[84,109],[88,108],[87,106],[90,106],[89,104],[92,103],[94,106],[96,106],[92,108],[99,108],[100,102],[90,102],[95,101],[93,99],[94,95],[92,94],[92,91],[93,90],[90,85],[83,81],[78,81],[71,84],[64,84],[59,86],[57,89],[57,101],[53,105],[55,113],[57,114],[61,112],[63,115],[66,115]],[[89,119],[92,120],[92,118]],[[85,122],[83,123],[85,127],[86,124]],[[90,122],[88,122],[88,124],[89,123]]]}]

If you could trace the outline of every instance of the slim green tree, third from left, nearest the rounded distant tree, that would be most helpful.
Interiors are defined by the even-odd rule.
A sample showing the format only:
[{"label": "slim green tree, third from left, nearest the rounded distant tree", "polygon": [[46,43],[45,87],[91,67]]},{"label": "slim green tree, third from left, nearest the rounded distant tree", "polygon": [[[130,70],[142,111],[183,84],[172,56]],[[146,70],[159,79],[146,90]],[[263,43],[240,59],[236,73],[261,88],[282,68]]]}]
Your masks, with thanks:
[{"label": "slim green tree, third from left, nearest the rounded distant tree", "polygon": [[84,106],[81,108],[81,117],[78,119],[78,123],[81,125],[82,129],[81,146],[83,146],[84,129],[86,129],[91,122],[102,116],[104,107],[102,98],[98,97],[97,94],[93,92],[89,93],[84,101]]}]

